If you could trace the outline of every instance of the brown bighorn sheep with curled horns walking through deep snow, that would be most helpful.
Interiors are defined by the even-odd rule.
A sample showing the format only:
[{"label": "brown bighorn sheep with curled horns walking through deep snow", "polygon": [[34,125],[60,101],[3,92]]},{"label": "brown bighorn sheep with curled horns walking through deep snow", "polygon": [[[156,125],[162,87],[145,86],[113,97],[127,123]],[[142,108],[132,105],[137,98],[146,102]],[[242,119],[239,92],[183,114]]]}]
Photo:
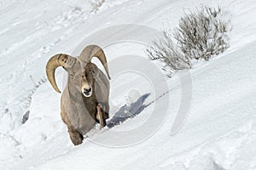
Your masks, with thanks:
[{"label": "brown bighorn sheep with curled horns walking through deep snow", "polygon": [[[93,63],[97,57],[108,77]],[[55,69],[62,66],[68,73],[67,85],[61,95],[61,118],[66,123],[74,145],[83,142],[83,135],[100,122],[106,126],[108,119],[109,82],[108,63],[102,48],[90,45],[78,58],[68,54],[55,54],[46,65],[48,80],[56,92],[61,93],[55,82]]]}]

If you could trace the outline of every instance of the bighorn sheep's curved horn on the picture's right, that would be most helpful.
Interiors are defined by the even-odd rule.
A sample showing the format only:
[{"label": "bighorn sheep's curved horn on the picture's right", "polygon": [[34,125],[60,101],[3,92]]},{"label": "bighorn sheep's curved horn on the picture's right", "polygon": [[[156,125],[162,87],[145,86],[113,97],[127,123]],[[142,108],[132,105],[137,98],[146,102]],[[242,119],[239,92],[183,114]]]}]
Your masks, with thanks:
[{"label": "bighorn sheep's curved horn on the picture's right", "polygon": [[93,57],[100,59],[100,61],[102,62],[102,65],[104,66],[105,71],[107,72],[108,79],[110,80],[108,63],[107,63],[106,55],[104,54],[104,51],[102,48],[100,48],[97,45],[89,45],[86,48],[84,48],[82,53],[79,55],[79,59],[83,60],[86,63],[90,63]]}]

